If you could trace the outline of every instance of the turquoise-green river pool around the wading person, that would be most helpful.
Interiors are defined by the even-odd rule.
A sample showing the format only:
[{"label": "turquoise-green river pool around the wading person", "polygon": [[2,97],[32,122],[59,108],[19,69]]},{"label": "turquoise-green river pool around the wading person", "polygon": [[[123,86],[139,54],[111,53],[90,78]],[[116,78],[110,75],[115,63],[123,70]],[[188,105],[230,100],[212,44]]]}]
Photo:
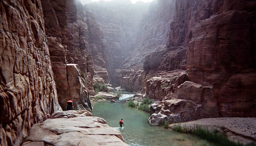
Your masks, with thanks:
[{"label": "turquoise-green river pool around the wading person", "polygon": [[[190,134],[182,134],[163,127],[151,126],[147,121],[150,114],[127,103],[110,103],[108,100],[93,104],[93,115],[102,117],[110,127],[123,133],[124,141],[131,146],[196,146],[200,139]],[[123,119],[124,126],[118,125]]]}]

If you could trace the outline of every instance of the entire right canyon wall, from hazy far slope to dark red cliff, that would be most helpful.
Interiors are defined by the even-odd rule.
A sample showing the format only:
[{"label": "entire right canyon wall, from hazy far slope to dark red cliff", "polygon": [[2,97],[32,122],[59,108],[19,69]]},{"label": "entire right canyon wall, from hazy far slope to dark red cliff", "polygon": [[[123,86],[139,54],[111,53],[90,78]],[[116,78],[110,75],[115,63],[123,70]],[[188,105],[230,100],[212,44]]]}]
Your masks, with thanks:
[{"label": "entire right canyon wall, from hazy far slope to dark red cliff", "polygon": [[[255,117],[255,3],[153,1],[113,82],[166,100],[152,109],[171,121]],[[112,26],[119,25],[109,22],[108,13],[102,16],[96,20],[103,32],[117,33]]]}]

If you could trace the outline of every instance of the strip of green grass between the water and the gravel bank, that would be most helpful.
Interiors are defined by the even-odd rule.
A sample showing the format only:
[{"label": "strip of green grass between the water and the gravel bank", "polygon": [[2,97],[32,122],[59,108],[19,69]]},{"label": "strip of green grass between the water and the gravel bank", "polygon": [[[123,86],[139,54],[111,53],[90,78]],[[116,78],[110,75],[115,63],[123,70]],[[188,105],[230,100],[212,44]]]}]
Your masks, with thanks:
[{"label": "strip of green grass between the water and the gravel bank", "polygon": [[[193,129],[187,129],[186,127],[182,127],[181,124],[174,124],[172,126],[174,131],[182,132],[182,133],[192,133],[204,139],[210,143],[215,143],[220,146],[244,146],[240,142],[230,141],[224,134],[219,133],[217,130],[209,131],[201,126],[196,125]],[[199,143],[198,146],[210,146],[210,143],[205,141]],[[245,146],[256,146],[255,143],[248,143]]]}]

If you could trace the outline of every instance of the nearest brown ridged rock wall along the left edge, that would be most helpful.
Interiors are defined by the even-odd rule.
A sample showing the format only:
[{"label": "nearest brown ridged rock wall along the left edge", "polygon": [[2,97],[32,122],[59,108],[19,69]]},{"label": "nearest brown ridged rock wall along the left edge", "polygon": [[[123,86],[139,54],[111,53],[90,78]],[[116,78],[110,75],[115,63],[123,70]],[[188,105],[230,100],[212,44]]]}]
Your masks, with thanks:
[{"label": "nearest brown ridged rock wall along the left edge", "polygon": [[0,145],[18,146],[61,107],[41,1],[2,0],[0,8]]}]

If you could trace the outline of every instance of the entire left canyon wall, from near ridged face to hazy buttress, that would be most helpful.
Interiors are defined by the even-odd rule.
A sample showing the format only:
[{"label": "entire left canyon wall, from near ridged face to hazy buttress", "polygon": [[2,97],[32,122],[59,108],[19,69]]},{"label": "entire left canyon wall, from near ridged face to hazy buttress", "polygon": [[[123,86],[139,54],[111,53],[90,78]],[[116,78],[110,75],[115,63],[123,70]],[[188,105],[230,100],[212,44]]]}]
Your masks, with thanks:
[{"label": "entire left canyon wall, from near ridged face to hazy buttress", "polygon": [[101,28],[77,0],[3,0],[0,13],[0,143],[18,146],[67,100],[91,110],[93,77],[108,82],[108,58]]}]

